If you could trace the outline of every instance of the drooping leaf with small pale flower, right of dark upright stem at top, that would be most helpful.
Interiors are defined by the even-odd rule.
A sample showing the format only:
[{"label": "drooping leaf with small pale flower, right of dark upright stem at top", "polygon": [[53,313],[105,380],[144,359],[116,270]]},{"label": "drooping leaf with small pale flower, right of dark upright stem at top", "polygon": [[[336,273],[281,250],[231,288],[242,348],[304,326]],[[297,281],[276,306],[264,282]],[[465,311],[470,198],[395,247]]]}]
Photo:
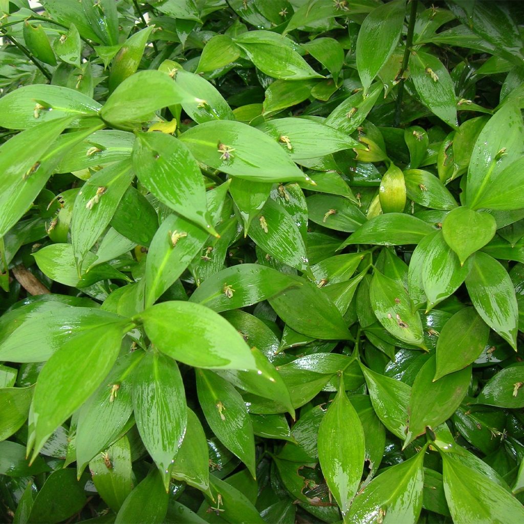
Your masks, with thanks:
[{"label": "drooping leaf with small pale flower, right of dark upright stem at top", "polygon": [[422,103],[451,127],[457,127],[453,80],[444,64],[433,54],[413,51],[409,57],[410,78]]}]

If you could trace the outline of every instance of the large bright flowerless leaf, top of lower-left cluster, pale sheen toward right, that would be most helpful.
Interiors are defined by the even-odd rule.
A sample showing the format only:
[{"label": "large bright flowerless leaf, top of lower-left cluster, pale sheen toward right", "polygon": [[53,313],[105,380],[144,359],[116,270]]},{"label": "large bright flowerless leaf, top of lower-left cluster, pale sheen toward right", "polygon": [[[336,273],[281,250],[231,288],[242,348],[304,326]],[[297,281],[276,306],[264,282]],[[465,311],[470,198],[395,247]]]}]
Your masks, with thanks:
[{"label": "large bright flowerless leaf, top of lower-left cluster, pale sheen toward right", "polygon": [[204,305],[162,302],[147,308],[137,319],[144,323],[147,336],[162,353],[184,364],[256,370],[255,360],[242,336]]}]

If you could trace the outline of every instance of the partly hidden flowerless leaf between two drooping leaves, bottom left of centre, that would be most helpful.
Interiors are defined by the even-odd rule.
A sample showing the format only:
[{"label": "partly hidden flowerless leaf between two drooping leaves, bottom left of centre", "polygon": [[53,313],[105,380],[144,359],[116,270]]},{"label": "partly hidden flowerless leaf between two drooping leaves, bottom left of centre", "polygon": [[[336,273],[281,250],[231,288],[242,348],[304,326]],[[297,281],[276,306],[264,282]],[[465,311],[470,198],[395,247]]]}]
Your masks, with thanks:
[{"label": "partly hidden flowerless leaf between two drooping leaves, bottom left of centre", "polygon": [[210,493],[208,442],[199,418],[191,409],[187,408],[187,411],[187,427],[174,457],[171,475],[178,481]]}]

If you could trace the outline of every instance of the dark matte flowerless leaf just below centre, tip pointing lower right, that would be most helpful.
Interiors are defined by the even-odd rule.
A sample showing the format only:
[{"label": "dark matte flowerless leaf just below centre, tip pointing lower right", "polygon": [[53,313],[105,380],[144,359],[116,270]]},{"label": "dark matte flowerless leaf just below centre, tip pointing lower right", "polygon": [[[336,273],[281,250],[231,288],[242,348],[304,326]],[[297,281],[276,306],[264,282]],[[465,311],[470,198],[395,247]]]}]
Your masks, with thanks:
[{"label": "dark matte flowerless leaf just below centre, tip pointing lower right", "polygon": [[315,339],[351,339],[346,322],[328,296],[307,280],[294,280],[302,285],[269,299],[278,316],[295,331]]}]

